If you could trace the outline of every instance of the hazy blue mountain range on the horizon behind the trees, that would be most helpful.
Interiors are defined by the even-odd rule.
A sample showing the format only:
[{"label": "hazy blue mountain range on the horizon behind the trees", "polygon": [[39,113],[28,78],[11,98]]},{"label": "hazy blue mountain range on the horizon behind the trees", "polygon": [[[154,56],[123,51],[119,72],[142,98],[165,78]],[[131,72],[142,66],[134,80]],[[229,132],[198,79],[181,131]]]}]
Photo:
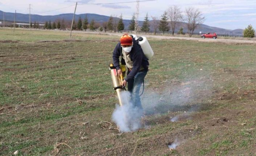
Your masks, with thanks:
[{"label": "hazy blue mountain range on the horizon behind the trees", "polygon": [[[75,14],[75,21],[78,21],[79,17],[84,19],[86,15],[87,15],[89,22],[92,19],[94,19],[95,22],[103,23],[103,22],[108,21],[108,19],[110,18],[109,16],[86,13],[86,14]],[[13,21],[14,13],[5,12],[4,17],[5,17],[6,21]],[[53,16],[41,16],[41,15],[37,15],[37,14],[31,14],[32,23],[36,21],[36,22],[39,22],[42,24],[44,24],[45,21],[49,21],[49,20],[57,21],[57,20],[65,19],[66,21],[71,21],[72,18],[73,18],[72,13],[58,14],[58,15],[53,15]],[[116,20],[118,20],[118,18],[116,18],[116,17],[114,17],[114,18]],[[0,10],[0,21],[2,21],[2,20],[3,20],[3,11]],[[29,14],[16,13],[16,21],[28,23],[29,22]],[[123,22],[125,25],[125,29],[127,29],[129,26],[130,20],[123,20]],[[143,21],[139,21],[140,26],[142,25],[142,23],[143,23]],[[181,27],[183,27],[184,32],[187,32],[187,28],[186,28],[187,26],[186,26],[186,23],[184,23],[184,22],[178,22],[175,32],[177,33]],[[215,32],[219,35],[220,34],[222,34],[222,35],[239,35],[239,36],[243,35],[243,29],[229,30],[229,29],[212,27],[212,26],[208,26],[205,24],[199,25],[199,27],[197,29],[195,29],[194,33],[199,33],[200,31],[202,33]]]}]

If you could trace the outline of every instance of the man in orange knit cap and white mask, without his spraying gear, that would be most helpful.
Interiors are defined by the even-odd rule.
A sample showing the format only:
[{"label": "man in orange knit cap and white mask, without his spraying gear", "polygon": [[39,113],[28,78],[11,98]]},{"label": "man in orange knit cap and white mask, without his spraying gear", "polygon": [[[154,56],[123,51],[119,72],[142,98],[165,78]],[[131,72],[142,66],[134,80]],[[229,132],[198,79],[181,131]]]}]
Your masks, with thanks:
[{"label": "man in orange knit cap and white mask, without his spraying gear", "polygon": [[120,69],[120,56],[121,63],[128,68],[127,77],[124,78],[122,85],[125,86],[128,83],[128,91],[131,92],[133,105],[142,109],[139,92],[148,72],[148,59],[139,43],[128,34],[121,36],[120,42],[117,43],[113,51],[113,64],[118,75],[123,74]]}]

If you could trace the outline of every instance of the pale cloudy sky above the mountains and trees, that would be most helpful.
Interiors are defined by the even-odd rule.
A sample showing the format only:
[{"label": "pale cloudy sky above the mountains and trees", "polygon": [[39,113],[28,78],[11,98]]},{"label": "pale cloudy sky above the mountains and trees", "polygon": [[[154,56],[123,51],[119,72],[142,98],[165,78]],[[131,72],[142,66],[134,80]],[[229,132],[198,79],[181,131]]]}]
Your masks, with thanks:
[{"label": "pale cloudy sky above the mountains and trees", "polygon": [[[84,4],[77,6],[76,14],[96,13],[106,16],[111,14],[120,16],[122,13],[124,19],[131,19],[133,12],[136,11],[136,3],[92,5],[92,3],[116,3],[136,0],[0,0],[0,10],[4,12],[15,12],[17,10],[18,13],[29,13],[28,8],[31,4],[33,14],[73,13],[75,6],[71,5],[74,5],[76,1],[78,4]],[[252,24],[256,28],[256,0],[156,0],[140,2],[139,20],[143,20],[146,13],[150,17],[160,17],[164,10],[171,5],[177,5],[181,10],[188,7],[198,8],[206,17],[204,24],[209,26],[244,29]],[[54,11],[45,12],[49,10]]]}]

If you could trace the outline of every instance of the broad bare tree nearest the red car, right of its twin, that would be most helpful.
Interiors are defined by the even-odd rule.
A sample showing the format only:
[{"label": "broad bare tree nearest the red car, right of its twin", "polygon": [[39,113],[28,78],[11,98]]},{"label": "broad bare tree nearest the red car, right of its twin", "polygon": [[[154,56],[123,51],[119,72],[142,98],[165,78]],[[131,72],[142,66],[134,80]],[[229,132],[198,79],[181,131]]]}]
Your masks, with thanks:
[{"label": "broad bare tree nearest the red car, right of its twin", "polygon": [[184,22],[187,23],[187,29],[189,31],[189,36],[191,37],[194,33],[194,30],[199,24],[202,24],[205,21],[205,17],[199,9],[187,8],[185,11]]}]

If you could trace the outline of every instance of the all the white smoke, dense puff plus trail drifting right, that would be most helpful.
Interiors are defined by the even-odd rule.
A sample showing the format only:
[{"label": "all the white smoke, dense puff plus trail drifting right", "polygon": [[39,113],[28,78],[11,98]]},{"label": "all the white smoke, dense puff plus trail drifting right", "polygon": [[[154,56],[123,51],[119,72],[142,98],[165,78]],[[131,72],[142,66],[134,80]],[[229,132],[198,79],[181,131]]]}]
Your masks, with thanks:
[{"label": "all the white smoke, dense puff plus trail drifting right", "polygon": [[[173,118],[170,121],[177,122],[180,119],[189,119],[191,113],[197,111],[202,101],[207,96],[211,96],[211,81],[210,79],[190,80],[186,82],[178,82],[175,85],[167,85],[163,90],[148,89],[141,97],[141,103],[143,110],[134,107],[128,100],[123,106],[116,105],[116,109],[112,114],[112,120],[119,127],[122,132],[135,131],[142,126],[150,127],[148,125],[142,125],[141,117],[144,115],[153,114],[165,114],[170,112],[184,111]],[[205,92],[207,84],[208,92]],[[122,99],[129,99],[131,94],[129,92],[123,92],[121,94]]]}]

